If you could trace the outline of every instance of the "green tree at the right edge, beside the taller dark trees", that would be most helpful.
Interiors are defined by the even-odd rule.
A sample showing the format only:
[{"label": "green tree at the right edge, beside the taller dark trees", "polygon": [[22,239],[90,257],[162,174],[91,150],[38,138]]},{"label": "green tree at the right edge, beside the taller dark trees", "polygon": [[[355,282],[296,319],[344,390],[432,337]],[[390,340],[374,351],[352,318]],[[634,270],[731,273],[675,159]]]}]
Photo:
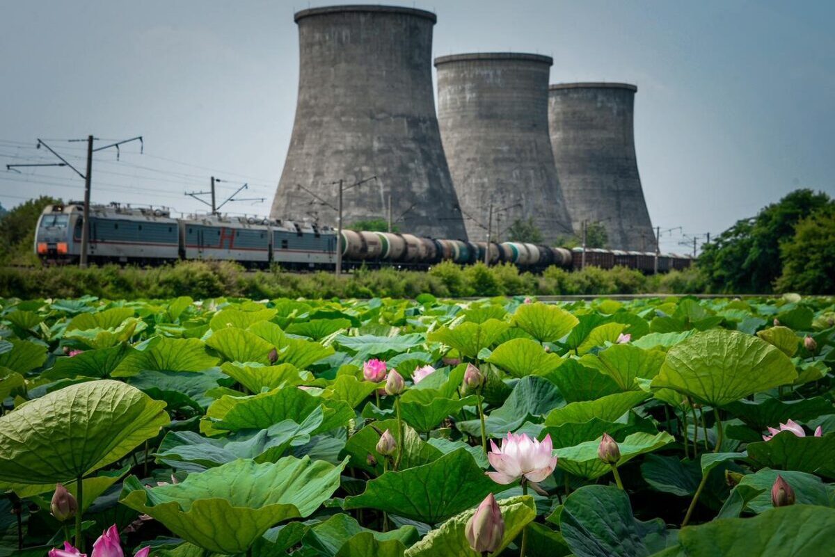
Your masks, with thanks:
[{"label": "green tree at the right edge, beside the taller dark trees", "polygon": [[803,218],[794,236],[780,244],[781,292],[835,294],[835,206],[832,203]]}]

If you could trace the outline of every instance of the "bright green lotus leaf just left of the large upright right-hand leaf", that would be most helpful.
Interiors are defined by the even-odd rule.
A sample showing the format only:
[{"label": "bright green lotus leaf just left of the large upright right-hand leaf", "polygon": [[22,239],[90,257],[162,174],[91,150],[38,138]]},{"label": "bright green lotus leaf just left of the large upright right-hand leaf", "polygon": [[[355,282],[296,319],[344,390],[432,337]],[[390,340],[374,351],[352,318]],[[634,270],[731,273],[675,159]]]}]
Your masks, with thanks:
[{"label": "bright green lotus leaf just left of the large upright right-hand leaf", "polygon": [[644,350],[630,344],[613,344],[598,354],[585,354],[579,363],[609,375],[620,389],[635,391],[640,388],[635,378],[652,379],[661,369],[665,354],[659,350]]}]

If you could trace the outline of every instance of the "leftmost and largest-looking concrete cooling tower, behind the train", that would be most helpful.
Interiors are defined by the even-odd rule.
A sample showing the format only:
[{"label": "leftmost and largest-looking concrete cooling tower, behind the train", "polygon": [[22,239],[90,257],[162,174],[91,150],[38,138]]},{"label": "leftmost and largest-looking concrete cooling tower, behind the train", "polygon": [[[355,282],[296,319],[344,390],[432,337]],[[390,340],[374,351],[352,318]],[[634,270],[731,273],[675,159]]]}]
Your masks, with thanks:
[{"label": "leftmost and largest-looking concrete cooling tower, behind the train", "polygon": [[[466,238],[441,146],[432,84],[435,14],[387,6],[296,13],[301,53],[296,122],[273,218],[336,224],[386,218],[404,232]],[[300,188],[301,186],[301,188]],[[305,191],[308,190],[308,191]],[[317,199],[318,198],[318,199]]]}]

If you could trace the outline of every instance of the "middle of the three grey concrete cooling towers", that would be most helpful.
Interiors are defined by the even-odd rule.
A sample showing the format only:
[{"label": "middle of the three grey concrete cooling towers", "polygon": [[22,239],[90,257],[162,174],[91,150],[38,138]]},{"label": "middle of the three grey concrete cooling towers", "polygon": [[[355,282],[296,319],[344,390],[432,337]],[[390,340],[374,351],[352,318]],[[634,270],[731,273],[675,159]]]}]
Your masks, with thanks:
[{"label": "middle of the three grey concrete cooling towers", "polygon": [[552,63],[518,53],[435,58],[443,149],[470,238],[485,238],[491,204],[509,207],[493,215],[493,238],[527,218],[546,242],[572,233],[548,135]]}]

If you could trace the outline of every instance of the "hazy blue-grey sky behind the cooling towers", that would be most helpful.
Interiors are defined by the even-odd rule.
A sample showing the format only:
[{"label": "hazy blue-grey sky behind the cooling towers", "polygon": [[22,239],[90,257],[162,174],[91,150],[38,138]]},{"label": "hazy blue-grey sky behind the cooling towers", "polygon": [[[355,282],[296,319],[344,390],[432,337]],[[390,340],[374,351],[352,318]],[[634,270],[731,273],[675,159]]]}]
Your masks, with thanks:
[{"label": "hazy blue-grey sky behind the cooling towers", "polygon": [[[635,148],[661,248],[721,233],[795,188],[835,195],[835,3],[772,0],[390,2],[438,14],[433,56],[542,53],[551,83],[635,83]],[[83,198],[269,213],[296,109],[293,13],[328,2],[0,0],[0,203]],[[434,72],[434,70],[433,70]],[[681,228],[680,228],[681,227]],[[701,241],[701,240],[700,240]],[[691,241],[688,245],[692,245]]]}]

